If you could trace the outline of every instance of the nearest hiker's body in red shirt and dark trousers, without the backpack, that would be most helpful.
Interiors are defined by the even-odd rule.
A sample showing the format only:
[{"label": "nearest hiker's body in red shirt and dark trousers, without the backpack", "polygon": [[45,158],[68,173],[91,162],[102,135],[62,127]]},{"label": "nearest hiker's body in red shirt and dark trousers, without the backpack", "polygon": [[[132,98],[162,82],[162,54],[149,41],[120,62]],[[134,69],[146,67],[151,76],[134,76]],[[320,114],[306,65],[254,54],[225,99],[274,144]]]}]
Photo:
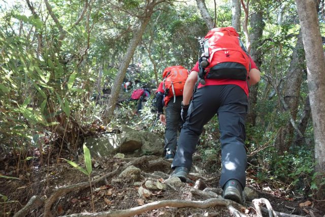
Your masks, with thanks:
[{"label": "nearest hiker's body in red shirt and dark trousers, without the backpack", "polygon": [[246,184],[247,156],[244,141],[248,88],[260,80],[259,70],[251,57],[248,57],[248,80],[206,78],[205,85],[200,83],[193,97],[192,91],[198,81],[199,63],[192,68],[184,86],[181,116],[185,123],[172,163],[174,171],[170,176],[186,181],[192,165],[192,154],[196,150],[203,127],[217,114],[222,162],[219,183],[223,189],[223,197],[238,203],[242,203],[242,191]]}]

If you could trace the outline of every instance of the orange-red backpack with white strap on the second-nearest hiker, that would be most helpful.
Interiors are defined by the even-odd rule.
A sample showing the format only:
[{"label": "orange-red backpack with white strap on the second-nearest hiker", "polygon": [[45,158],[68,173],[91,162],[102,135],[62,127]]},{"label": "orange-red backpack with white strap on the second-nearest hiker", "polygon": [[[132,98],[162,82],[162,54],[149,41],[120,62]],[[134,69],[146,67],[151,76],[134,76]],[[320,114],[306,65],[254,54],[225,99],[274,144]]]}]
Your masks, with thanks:
[{"label": "orange-red backpack with white strap on the second-nearest hiker", "polygon": [[165,102],[174,97],[183,96],[185,81],[188,77],[188,71],[182,66],[167,67],[163,72],[163,89],[165,91]]}]

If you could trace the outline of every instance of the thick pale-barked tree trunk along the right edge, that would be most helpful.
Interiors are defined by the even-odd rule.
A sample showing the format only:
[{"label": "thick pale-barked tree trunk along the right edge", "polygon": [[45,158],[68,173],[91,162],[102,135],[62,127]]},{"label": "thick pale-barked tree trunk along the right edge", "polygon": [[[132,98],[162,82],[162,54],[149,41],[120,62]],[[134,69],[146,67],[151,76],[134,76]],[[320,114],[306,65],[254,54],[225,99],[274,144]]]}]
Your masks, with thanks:
[{"label": "thick pale-barked tree trunk along the right edge", "polygon": [[[315,0],[296,0],[307,63],[307,81],[315,141],[315,171],[325,170],[325,56]],[[325,199],[325,186],[316,178],[318,199]]]}]

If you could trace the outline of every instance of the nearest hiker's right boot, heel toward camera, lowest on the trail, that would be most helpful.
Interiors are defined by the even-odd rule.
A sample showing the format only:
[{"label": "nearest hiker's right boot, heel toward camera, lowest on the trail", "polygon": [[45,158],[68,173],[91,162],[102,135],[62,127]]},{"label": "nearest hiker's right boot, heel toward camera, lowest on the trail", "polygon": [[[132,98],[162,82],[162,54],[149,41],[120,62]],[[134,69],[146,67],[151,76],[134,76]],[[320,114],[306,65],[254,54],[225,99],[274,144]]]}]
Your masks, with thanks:
[{"label": "nearest hiker's right boot, heel toward camera, lowest on the trail", "polygon": [[230,179],[223,187],[223,198],[243,204],[243,188],[239,181]]}]

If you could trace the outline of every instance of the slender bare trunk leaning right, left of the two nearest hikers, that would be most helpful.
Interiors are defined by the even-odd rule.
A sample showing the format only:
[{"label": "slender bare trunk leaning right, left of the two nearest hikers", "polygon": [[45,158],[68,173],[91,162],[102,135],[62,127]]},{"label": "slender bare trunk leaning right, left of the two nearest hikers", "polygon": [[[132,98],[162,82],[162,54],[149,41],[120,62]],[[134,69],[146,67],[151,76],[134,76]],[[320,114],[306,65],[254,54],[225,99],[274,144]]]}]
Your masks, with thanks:
[{"label": "slender bare trunk leaning right, left of the two nearest hikers", "polygon": [[[153,1],[154,2],[154,1]],[[136,33],[134,34],[131,42],[129,43],[129,46],[127,48],[127,51],[124,55],[124,58],[120,64],[120,67],[118,69],[118,73],[116,75],[115,81],[114,81],[114,85],[112,88],[112,94],[110,96],[109,102],[108,102],[108,106],[107,106],[107,110],[106,110],[106,121],[107,123],[109,123],[113,117],[113,113],[114,113],[114,109],[116,106],[116,102],[120,93],[120,89],[121,89],[121,85],[123,82],[123,79],[125,77],[126,74],[126,69],[133,57],[133,54],[135,53],[135,50],[138,46],[138,44],[141,41],[142,35],[146,29],[147,24],[150,21],[150,17],[153,13],[153,7],[155,6],[156,3],[151,3],[148,5],[148,7],[145,10],[145,16],[143,17],[141,24],[138,28],[138,30],[136,31]]]}]

